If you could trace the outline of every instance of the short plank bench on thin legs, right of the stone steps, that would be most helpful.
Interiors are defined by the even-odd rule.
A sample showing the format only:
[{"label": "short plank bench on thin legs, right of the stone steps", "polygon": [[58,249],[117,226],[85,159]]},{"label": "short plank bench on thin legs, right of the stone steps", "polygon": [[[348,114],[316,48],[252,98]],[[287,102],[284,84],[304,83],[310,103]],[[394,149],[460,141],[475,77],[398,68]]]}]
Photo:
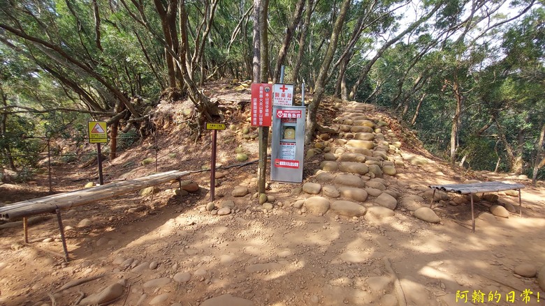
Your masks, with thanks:
[{"label": "short plank bench on thin legs, right of the stone steps", "polygon": [[437,190],[441,190],[444,192],[456,192],[457,194],[470,194],[471,221],[473,226],[473,232],[475,232],[475,217],[474,217],[472,194],[485,193],[485,192],[499,192],[504,190],[518,190],[518,208],[519,208],[519,213],[522,217],[521,189],[525,188],[525,185],[523,184],[508,184],[503,182],[484,182],[484,183],[470,183],[470,184],[430,185],[428,187],[433,189],[433,195],[430,201],[430,208],[432,208],[433,206],[435,191]]}]

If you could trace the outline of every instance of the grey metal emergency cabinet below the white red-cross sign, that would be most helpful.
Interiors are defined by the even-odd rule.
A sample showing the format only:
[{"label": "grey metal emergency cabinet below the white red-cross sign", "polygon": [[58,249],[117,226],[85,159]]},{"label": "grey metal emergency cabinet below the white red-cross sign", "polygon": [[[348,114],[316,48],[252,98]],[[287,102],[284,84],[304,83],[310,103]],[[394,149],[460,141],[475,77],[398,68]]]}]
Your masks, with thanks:
[{"label": "grey metal emergency cabinet below the white red-cross sign", "polygon": [[286,183],[303,181],[305,156],[305,106],[273,106],[270,179]]}]

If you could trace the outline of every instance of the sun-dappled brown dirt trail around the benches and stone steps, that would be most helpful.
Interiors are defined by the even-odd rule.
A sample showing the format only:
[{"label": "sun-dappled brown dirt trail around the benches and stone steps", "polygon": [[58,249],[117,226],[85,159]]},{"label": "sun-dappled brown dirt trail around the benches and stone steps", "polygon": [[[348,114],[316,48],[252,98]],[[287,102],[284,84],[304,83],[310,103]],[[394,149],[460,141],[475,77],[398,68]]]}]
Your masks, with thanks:
[{"label": "sun-dappled brown dirt trail around the benches and stone steps", "polygon": [[[522,263],[535,268],[545,264],[543,186],[523,190],[522,218],[513,213],[509,218],[495,217],[488,212],[491,203],[477,204],[476,233],[471,232],[470,206],[467,201],[454,202],[458,196],[453,194],[435,204],[440,223],[424,222],[413,214],[415,208],[429,205],[422,197],[427,186],[461,183],[463,176],[406,150],[393,123],[370,106],[344,105],[338,114],[330,125],[340,129],[351,120],[349,130],[319,141],[324,150],[305,162],[309,169],[323,168],[324,156],[330,153],[335,155],[330,162],[348,165],[342,165],[342,156],[354,157],[347,155],[353,153],[348,141],[358,133],[351,128],[359,126],[354,121],[365,114],[377,125],[370,132],[375,148],[367,160],[377,158],[382,169],[389,160],[396,173],[380,179],[370,173],[354,175],[365,184],[359,188],[368,193],[364,201],[347,194],[326,196],[324,186],[333,186],[328,192],[346,190],[345,182],[334,180],[349,174],[316,169],[317,175],[307,176],[305,182],[319,184],[320,192],[310,194],[300,190],[302,185],[273,182],[268,191],[273,208],[266,209],[254,198],[256,166],[249,165],[225,171],[215,206],[232,209],[228,215],[217,215],[217,209],[206,209],[209,174],[194,174],[190,179],[201,189],[183,201],[172,190],[163,190],[153,202],[133,195],[64,213],[73,259],[69,263],[54,256],[62,249],[52,221],[31,228],[29,245],[22,243],[22,229],[1,230],[0,305],[52,305],[48,293],[71,280],[102,274],[98,280],[54,293],[57,305],[74,305],[81,293],[87,297],[107,286],[119,296],[110,305],[465,305],[471,304],[474,291],[484,297],[474,305],[545,303],[535,277],[514,274]],[[381,121],[386,124],[378,127]],[[400,141],[401,146],[386,146],[387,158],[381,160],[377,156],[382,153],[373,152],[380,151],[382,141],[390,145]],[[329,174],[334,178],[321,181],[321,173],[326,173],[322,178]],[[494,177],[502,178],[513,180]],[[386,189],[375,194],[377,188],[370,185],[378,185],[369,182],[382,182]],[[9,187],[1,185],[0,191]],[[231,192],[241,187],[248,193],[233,197]],[[370,213],[372,207],[382,207],[377,198],[384,193],[395,198],[393,215]],[[304,201],[311,197],[323,197],[331,208],[313,213],[314,206]],[[516,198],[500,192],[500,199]],[[333,209],[339,200],[365,207],[366,213],[346,217],[344,211]],[[78,227],[83,219],[90,223]],[[529,302],[523,299],[525,289],[536,295],[530,295]],[[465,291],[467,303],[462,299]],[[507,300],[511,291],[513,303]]]}]

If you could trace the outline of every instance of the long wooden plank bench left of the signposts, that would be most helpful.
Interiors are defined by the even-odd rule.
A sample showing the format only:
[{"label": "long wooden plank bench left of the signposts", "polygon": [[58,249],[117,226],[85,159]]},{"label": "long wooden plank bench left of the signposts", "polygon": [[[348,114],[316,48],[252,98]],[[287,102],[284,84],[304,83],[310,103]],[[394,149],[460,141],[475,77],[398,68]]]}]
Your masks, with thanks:
[{"label": "long wooden plank bench left of the signposts", "polygon": [[168,171],[131,180],[109,183],[107,185],[52,194],[38,199],[20,201],[14,204],[0,207],[0,220],[17,220],[23,218],[24,242],[28,243],[27,217],[43,213],[56,213],[59,231],[61,232],[62,247],[66,261],[68,261],[68,248],[64,238],[61,210],[80,205],[90,204],[103,199],[117,197],[118,195],[135,192],[143,188],[160,185],[170,181],[178,181],[182,188],[181,178],[190,174],[189,171]]}]

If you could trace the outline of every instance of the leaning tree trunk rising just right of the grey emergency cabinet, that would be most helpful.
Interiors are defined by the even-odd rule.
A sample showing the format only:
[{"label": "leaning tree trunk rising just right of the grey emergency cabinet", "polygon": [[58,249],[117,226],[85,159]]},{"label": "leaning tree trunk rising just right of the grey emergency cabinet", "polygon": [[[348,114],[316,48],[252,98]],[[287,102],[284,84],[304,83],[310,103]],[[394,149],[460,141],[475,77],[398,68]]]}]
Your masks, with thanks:
[{"label": "leaning tree trunk rising just right of the grey emergency cabinet", "polygon": [[316,130],[317,128],[316,117],[318,114],[318,107],[320,105],[321,97],[322,95],[324,95],[324,87],[326,86],[325,81],[328,77],[328,70],[331,65],[331,61],[333,61],[335,51],[337,50],[337,43],[339,40],[340,31],[342,29],[342,25],[344,24],[344,20],[347,17],[350,3],[351,0],[342,1],[340,13],[337,16],[337,20],[335,20],[335,26],[333,26],[333,31],[331,32],[330,43],[328,45],[326,56],[324,57],[324,61],[321,65],[316,83],[314,84],[314,97],[312,97],[312,101],[310,102],[310,105],[308,107],[306,124],[307,129],[305,130],[305,144],[310,144],[310,141],[312,141],[312,138],[314,137],[314,130]]}]

